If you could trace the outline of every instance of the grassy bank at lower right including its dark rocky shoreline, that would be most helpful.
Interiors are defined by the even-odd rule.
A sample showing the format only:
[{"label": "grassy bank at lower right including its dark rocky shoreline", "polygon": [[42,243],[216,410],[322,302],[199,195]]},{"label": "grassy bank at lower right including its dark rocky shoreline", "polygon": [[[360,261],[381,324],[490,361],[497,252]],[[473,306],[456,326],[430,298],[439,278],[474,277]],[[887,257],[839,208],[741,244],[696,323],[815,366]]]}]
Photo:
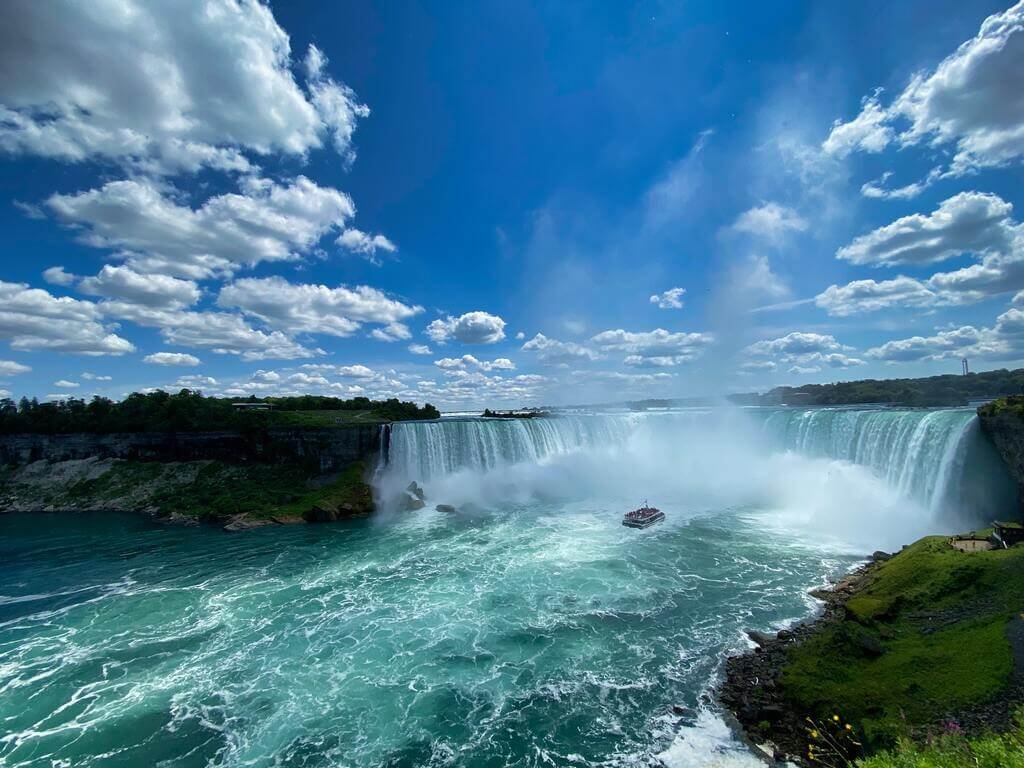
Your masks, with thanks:
[{"label": "grassy bank at lower right including its dark rocky shoreline", "polygon": [[927,537],[814,594],[817,620],[752,633],[758,647],[726,663],[719,698],[753,741],[811,764],[837,716],[864,754],[1012,726],[1024,703],[1024,546],[965,553]]}]

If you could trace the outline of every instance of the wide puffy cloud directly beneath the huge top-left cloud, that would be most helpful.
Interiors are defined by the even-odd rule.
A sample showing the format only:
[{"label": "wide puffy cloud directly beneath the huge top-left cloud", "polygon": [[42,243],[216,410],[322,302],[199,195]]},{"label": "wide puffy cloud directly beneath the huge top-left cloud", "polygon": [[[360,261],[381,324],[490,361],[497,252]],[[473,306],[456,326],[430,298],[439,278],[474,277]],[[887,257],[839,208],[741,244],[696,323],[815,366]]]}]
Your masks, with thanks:
[{"label": "wide puffy cloud directly beneath the huge top-left cloud", "polygon": [[121,252],[136,271],[191,279],[298,259],[355,212],[347,195],[305,176],[285,185],[247,178],[242,188],[193,209],[165,186],[133,179],[53,195],[46,205],[82,227],[87,245]]}]

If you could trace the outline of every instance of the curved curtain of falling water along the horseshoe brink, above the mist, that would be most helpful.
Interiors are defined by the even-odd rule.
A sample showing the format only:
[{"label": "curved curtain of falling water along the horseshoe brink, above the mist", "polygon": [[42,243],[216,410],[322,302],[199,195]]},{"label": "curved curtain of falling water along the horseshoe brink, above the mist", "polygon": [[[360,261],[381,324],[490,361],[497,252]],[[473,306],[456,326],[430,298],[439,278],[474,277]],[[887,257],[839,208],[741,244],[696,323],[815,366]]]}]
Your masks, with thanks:
[{"label": "curved curtain of falling water along the horseshoe brink, above the mist", "polygon": [[[650,440],[635,440],[638,435],[655,435],[655,451],[662,454],[676,446],[691,453],[730,451],[734,435],[732,442],[742,445],[744,457],[791,452],[850,462],[936,516],[966,511],[971,518],[990,519],[1012,509],[1016,500],[1006,467],[968,409],[712,409],[404,422],[391,428],[384,474],[394,482],[430,481],[574,452],[651,451]],[[740,471],[742,461],[751,460],[737,460]]]}]

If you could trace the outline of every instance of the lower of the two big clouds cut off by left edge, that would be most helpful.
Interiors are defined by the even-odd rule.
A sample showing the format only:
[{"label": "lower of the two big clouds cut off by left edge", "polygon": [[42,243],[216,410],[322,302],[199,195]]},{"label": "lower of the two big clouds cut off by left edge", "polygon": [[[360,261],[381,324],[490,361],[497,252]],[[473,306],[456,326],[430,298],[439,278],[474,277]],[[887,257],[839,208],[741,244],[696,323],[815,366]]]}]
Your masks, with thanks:
[{"label": "lower of the two big clouds cut off by left edge", "polygon": [[9,341],[14,349],[87,355],[119,355],[135,350],[130,341],[102,324],[96,304],[67,296],[57,298],[42,289],[2,281],[0,339]]}]

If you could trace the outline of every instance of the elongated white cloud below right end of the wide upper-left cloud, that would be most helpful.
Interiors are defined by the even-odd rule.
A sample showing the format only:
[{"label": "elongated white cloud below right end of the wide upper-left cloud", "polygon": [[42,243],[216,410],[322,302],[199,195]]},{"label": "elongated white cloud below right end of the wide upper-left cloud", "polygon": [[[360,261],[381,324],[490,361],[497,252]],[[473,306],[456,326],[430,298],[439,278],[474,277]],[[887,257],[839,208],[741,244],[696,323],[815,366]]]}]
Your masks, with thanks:
[{"label": "elongated white cloud below right end of the wide upper-left cloud", "polygon": [[[423,311],[369,286],[328,288],[283,278],[245,279],[221,288],[217,304],[241,309],[288,333],[351,336],[364,323],[383,326],[381,340],[408,339],[403,321]],[[375,338],[381,338],[376,335]]]}]

